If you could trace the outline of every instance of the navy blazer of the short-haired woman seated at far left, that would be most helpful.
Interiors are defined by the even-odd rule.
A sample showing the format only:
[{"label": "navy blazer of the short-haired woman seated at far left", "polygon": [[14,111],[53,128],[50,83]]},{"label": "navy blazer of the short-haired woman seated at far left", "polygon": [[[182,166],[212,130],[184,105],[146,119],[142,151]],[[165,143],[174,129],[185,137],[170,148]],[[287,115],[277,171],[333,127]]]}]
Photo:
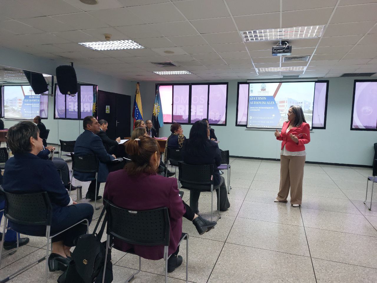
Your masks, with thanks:
[{"label": "navy blazer of the short-haired woman seated at far left", "polygon": [[15,154],[6,161],[3,189],[6,192],[47,192],[52,204],[52,221],[60,222],[68,216],[64,209],[70,202],[54,163],[32,153]]}]

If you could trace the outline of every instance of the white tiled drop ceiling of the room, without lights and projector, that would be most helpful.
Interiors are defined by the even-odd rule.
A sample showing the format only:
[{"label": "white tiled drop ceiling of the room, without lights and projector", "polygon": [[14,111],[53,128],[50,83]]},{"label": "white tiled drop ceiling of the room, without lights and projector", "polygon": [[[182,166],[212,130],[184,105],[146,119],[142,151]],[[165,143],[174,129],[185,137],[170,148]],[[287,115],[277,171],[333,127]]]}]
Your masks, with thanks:
[{"label": "white tiled drop ceiling of the room, without lights and projector", "polygon": [[[318,0],[313,3],[299,0],[271,0],[268,4],[267,2],[258,3],[257,7],[254,3],[254,9],[250,9],[252,3],[249,0],[146,0],[143,1],[143,5],[138,5],[140,2],[136,0],[109,0],[106,6],[82,6],[82,3],[77,4],[77,2],[76,0],[9,0],[4,5],[2,3],[0,45],[52,59],[61,58],[61,56],[74,57],[72,60],[75,63],[93,65],[97,62],[97,65],[103,67],[121,64],[123,61],[126,61],[124,64],[129,64],[126,60],[128,58],[128,61],[132,61],[130,62],[133,64],[132,67],[140,69],[141,72],[151,72],[149,70],[152,67],[145,63],[161,61],[165,58],[166,61],[174,59],[173,56],[161,56],[152,48],[168,50],[178,47],[184,50],[184,54],[181,55],[185,56],[181,57],[184,60],[177,57],[175,62],[179,62],[181,69],[190,69],[191,66],[193,74],[195,74],[195,69],[216,70],[227,66],[234,75],[237,74],[234,70],[242,68],[246,68],[245,70],[253,75],[251,72],[255,72],[255,66],[251,65],[252,68],[247,69],[248,63],[254,64],[253,58],[258,58],[256,59],[258,62],[263,62],[261,58],[265,58],[265,66],[274,66],[274,63],[267,62],[271,60],[271,46],[275,42],[267,42],[263,47],[245,44],[238,33],[240,30],[238,23],[243,25],[244,19],[254,18],[263,28],[285,26],[290,24],[290,21],[293,21],[291,22],[293,26],[298,26],[302,23],[310,23],[313,18],[323,21],[328,15],[327,11],[333,11],[336,7],[334,17],[329,21],[328,33],[326,34],[325,31],[322,35],[326,38],[323,42],[327,46],[321,46],[320,40],[293,40],[292,55],[316,55],[313,49],[318,51],[318,54],[327,54],[323,58],[331,58],[328,54],[338,54],[332,57],[336,60],[319,60],[324,62],[317,62],[313,65],[326,66],[322,64],[328,63],[328,71],[338,63],[353,64],[349,69],[359,69],[359,71],[361,68],[375,68],[372,64],[375,56],[364,58],[365,55],[362,53],[369,52],[367,57],[372,57],[372,52],[375,51],[373,46],[375,47],[377,13],[372,13],[371,10],[376,11],[377,3],[360,4],[358,2],[356,5],[349,5],[355,3],[346,0],[340,3],[334,0]],[[46,7],[46,3],[50,6]],[[215,6],[216,9],[210,9]],[[57,11],[61,14],[57,14]],[[355,11],[353,14],[356,15],[352,15],[351,18],[347,17],[350,11]],[[166,17],[166,14],[172,16]],[[276,14],[278,15],[277,25],[269,26],[272,22],[276,22],[274,20]],[[293,20],[288,17],[290,15],[294,15]],[[365,31],[368,28],[369,30]],[[200,29],[208,33],[200,34]],[[248,29],[253,29],[253,27],[248,26]],[[349,31],[347,35],[344,29]],[[22,34],[26,32],[28,34]],[[77,44],[75,42],[80,40],[80,35],[87,40],[96,41],[101,40],[103,33],[114,34],[115,40],[121,39],[122,36],[123,39],[136,39],[135,41],[144,44],[148,51],[128,50],[116,57],[118,55],[115,52],[106,54],[106,52],[88,51],[75,46]],[[184,34],[189,35],[185,37]],[[335,35],[338,38],[333,38]],[[224,38],[224,43],[221,43],[222,38]],[[335,40],[342,40],[339,51],[333,48]],[[204,46],[208,46],[209,49],[205,51]],[[295,49],[300,54],[295,54]],[[344,55],[341,61],[352,61],[339,62],[339,54]],[[152,60],[154,56],[159,60]],[[229,58],[229,56],[234,58]],[[146,58],[142,59],[143,57],[151,60],[145,62]],[[241,60],[243,58],[246,60]],[[369,60],[366,61],[366,59]],[[221,60],[222,64],[218,65]],[[126,68],[127,65],[124,66]],[[308,66],[311,66],[311,62],[308,62]],[[318,74],[323,74],[323,70],[318,70]],[[150,73],[151,77],[153,75]],[[245,75],[243,74],[242,77]]]}]

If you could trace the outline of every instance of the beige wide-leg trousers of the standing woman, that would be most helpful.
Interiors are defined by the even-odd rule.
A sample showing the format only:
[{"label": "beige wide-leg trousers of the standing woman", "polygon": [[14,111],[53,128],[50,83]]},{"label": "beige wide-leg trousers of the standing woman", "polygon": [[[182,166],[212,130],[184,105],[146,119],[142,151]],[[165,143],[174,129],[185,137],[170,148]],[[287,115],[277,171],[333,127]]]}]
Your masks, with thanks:
[{"label": "beige wide-leg trousers of the standing woman", "polygon": [[305,155],[280,155],[280,187],[276,198],[278,201],[287,201],[289,189],[291,188],[291,204],[301,204],[304,165]]}]

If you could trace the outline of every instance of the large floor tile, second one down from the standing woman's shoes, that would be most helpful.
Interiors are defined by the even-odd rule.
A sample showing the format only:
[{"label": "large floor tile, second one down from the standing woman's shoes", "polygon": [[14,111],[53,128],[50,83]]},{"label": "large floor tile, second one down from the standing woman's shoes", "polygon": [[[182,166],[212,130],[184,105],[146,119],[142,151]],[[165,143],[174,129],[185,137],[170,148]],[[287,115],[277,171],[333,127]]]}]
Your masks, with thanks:
[{"label": "large floor tile, second one down from the standing woman's shoes", "polygon": [[238,217],[227,243],[309,257],[303,227]]}]

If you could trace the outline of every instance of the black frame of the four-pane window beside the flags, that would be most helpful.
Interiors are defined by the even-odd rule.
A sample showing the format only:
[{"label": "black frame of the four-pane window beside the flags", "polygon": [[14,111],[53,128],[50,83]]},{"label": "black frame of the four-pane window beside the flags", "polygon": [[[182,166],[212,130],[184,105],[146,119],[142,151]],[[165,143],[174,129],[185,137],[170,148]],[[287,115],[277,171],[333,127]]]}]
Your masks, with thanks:
[{"label": "black frame of the four-pane window beside the flags", "polygon": [[[222,82],[222,83],[156,83],[155,89],[157,92],[158,86],[173,86],[172,88],[172,121],[173,121],[173,107],[174,107],[174,86],[175,85],[188,85],[189,86],[189,117],[188,123],[179,123],[181,125],[193,125],[194,123],[191,122],[191,97],[192,97],[192,86],[193,85],[207,85],[208,91],[207,91],[207,119],[208,119],[208,113],[209,113],[209,104],[210,104],[210,86],[211,85],[226,85],[227,86],[227,94],[226,94],[226,101],[225,101],[225,123],[224,124],[209,124],[210,126],[226,126],[227,125],[227,118],[228,118],[228,92],[229,92],[229,83],[228,82]],[[162,109],[163,110],[163,109]],[[164,124],[174,124],[174,122],[165,122]]]}]

